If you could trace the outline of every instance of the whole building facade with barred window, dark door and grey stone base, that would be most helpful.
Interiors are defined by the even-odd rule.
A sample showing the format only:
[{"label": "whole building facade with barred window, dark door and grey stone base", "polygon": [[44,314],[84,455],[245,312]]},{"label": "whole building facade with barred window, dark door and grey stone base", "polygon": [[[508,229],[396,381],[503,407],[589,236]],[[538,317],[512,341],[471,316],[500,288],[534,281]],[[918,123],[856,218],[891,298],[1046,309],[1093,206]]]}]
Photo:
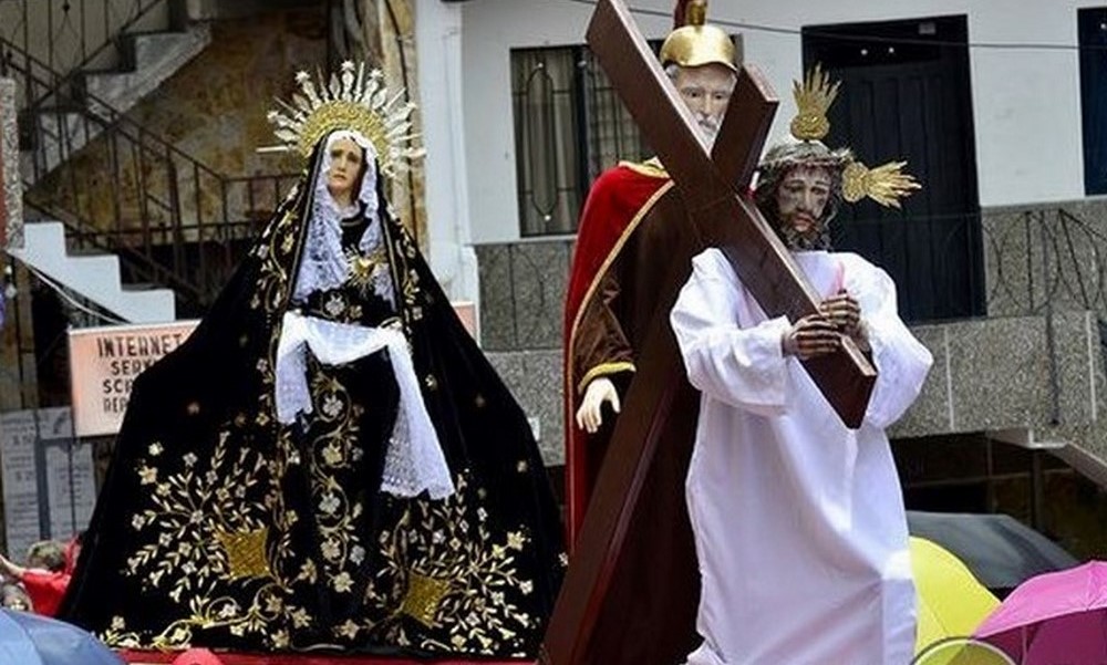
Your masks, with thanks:
[{"label": "whole building facade with barred window, dark door and grey stone base", "polygon": [[[648,39],[672,29],[671,0],[628,4]],[[587,69],[586,51],[566,49],[583,45],[593,3],[418,0],[417,8],[432,263],[455,298],[479,301],[485,347],[540,425],[547,459],[556,463],[561,300],[573,238],[571,222],[559,216],[579,211],[598,164],[581,158],[590,148],[578,137],[578,152],[567,154],[582,166],[566,176],[565,165],[536,166],[530,144],[542,133],[565,144],[573,141],[570,125],[587,133],[598,115],[607,114],[608,125],[619,116],[598,111],[586,95],[549,102],[579,113],[576,124],[551,116],[525,125],[535,106],[520,81],[528,71],[552,74],[552,55],[544,58],[559,50],[558,58],[580,59],[570,64]],[[1098,196],[1107,193],[1107,162],[1099,162],[1107,154],[1107,102],[1099,101],[1107,98],[1107,70],[1087,58],[1107,53],[1107,7],[714,0],[708,21],[742,35],[744,61],[777,91],[770,142],[786,134],[795,114],[793,80],[821,61],[846,80],[842,98],[859,100],[836,104],[846,105],[838,122],[848,120],[850,133],[831,134],[835,145],[848,143],[870,164],[906,157],[923,180],[906,221],[881,217],[879,233],[847,238],[861,253],[882,248],[870,258],[897,278],[901,305],[937,361],[922,398],[893,434],[982,433],[1028,447],[1048,441],[1085,474],[1107,479],[1107,437],[1098,427],[1107,393],[1099,336],[1107,315],[1099,259],[1107,256],[1107,200]],[[911,62],[914,69],[896,69]],[[898,87],[881,89],[889,84]],[[889,101],[891,110],[877,113]],[[942,115],[950,107],[961,115]],[[604,144],[600,167],[649,156],[633,141],[603,141],[625,152]],[[539,212],[536,227],[524,199],[541,186],[562,197],[568,211]],[[939,232],[912,236],[928,225]],[[962,287],[952,300],[944,291]]]}]

